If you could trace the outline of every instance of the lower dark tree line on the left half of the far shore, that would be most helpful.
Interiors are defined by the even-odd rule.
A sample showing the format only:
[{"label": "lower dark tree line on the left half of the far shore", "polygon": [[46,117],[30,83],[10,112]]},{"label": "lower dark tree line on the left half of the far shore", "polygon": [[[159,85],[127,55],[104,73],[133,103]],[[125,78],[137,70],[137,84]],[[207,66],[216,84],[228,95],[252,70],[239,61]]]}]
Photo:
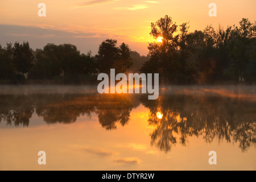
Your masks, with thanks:
[{"label": "lower dark tree line on the left half of the far shore", "polygon": [[28,42],[7,43],[0,47],[0,79],[52,80],[64,78],[76,82],[86,76],[108,73],[110,68],[126,72],[133,64],[132,52],[127,44],[117,46],[117,40],[106,39],[101,43],[98,54],[80,53],[72,44],[48,43],[43,49],[33,51]]}]

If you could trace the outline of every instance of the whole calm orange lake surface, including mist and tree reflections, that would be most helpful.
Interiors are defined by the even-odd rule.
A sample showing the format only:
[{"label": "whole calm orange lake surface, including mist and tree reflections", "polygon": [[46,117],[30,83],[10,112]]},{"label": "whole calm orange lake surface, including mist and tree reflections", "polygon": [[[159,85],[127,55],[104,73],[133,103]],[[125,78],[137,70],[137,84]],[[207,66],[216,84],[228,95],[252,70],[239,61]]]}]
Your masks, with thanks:
[{"label": "whole calm orange lake surface, including mist and tree reflections", "polygon": [[0,169],[256,169],[255,86],[168,86],[147,98],[2,85]]}]

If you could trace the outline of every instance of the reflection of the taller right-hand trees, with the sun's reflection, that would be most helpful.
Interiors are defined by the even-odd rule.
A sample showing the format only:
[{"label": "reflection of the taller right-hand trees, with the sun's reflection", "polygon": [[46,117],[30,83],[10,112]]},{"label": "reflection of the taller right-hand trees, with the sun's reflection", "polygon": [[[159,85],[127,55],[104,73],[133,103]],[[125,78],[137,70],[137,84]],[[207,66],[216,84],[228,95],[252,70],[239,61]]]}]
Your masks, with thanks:
[{"label": "reflection of the taller right-hand trees, with the sun's reflection", "polygon": [[[158,100],[141,97],[150,109],[148,123],[155,127],[151,145],[169,152],[176,143],[202,135],[205,142],[239,142],[242,151],[255,144],[256,103],[220,96],[164,95]],[[157,113],[163,114],[162,118]]]}]

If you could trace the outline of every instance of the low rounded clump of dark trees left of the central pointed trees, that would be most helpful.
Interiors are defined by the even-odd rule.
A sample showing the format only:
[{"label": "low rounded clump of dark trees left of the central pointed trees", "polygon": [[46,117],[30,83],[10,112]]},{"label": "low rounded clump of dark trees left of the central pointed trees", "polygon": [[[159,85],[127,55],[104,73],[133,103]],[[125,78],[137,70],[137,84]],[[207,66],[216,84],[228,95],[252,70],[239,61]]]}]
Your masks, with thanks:
[{"label": "low rounded clump of dark trees left of the central pointed trees", "polygon": [[91,52],[80,54],[72,44],[47,44],[36,51],[35,65],[28,77],[32,79],[52,79],[68,77],[75,81],[81,75],[96,73],[96,60]]}]

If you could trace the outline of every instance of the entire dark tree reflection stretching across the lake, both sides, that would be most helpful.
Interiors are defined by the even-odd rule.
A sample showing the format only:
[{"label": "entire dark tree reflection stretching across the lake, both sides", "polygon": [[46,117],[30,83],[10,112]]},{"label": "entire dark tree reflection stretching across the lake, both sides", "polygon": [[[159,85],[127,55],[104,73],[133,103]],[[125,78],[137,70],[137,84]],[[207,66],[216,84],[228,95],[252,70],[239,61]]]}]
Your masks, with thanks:
[{"label": "entire dark tree reflection stretching across the lake, both sides", "polygon": [[[138,98],[139,97],[139,98]],[[151,145],[170,152],[175,144],[187,145],[189,137],[203,136],[238,143],[242,151],[256,143],[256,102],[243,97],[195,94],[162,94],[158,100],[135,94],[31,94],[0,95],[0,122],[28,126],[35,113],[48,124],[76,122],[81,115],[92,117],[106,130],[125,126],[133,108],[149,109],[148,123],[154,126]]]}]

